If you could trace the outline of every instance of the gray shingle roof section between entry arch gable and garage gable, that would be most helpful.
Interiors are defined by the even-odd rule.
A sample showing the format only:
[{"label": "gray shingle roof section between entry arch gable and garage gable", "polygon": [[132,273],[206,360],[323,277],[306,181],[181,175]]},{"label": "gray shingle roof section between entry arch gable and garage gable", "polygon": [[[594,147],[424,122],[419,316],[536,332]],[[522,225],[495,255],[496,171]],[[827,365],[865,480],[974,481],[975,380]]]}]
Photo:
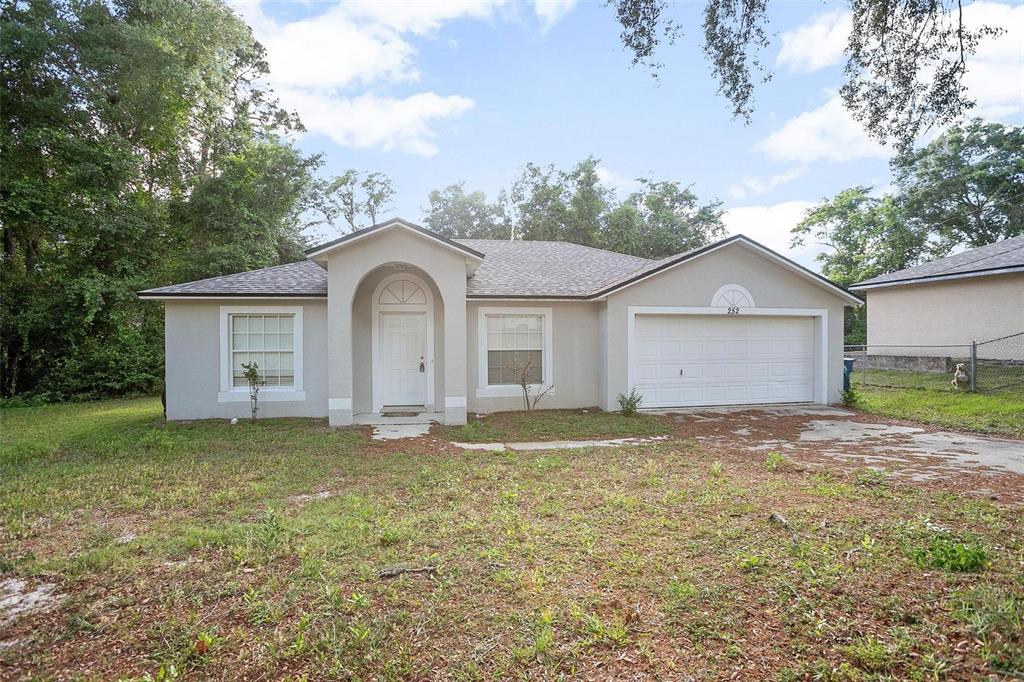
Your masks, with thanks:
[{"label": "gray shingle roof section between entry arch gable and garage gable", "polygon": [[653,262],[566,242],[457,241],[484,254],[469,296],[583,297]]}]

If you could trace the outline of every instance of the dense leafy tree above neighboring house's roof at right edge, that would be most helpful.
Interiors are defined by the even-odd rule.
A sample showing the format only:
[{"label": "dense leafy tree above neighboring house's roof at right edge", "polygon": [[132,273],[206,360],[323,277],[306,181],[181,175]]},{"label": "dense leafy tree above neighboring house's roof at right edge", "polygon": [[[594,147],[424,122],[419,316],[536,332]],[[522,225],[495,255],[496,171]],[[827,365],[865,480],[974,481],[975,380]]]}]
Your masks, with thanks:
[{"label": "dense leafy tree above neighboring house's roof at right edge", "polygon": [[907,220],[933,256],[1024,235],[1024,128],[979,120],[892,160]]}]

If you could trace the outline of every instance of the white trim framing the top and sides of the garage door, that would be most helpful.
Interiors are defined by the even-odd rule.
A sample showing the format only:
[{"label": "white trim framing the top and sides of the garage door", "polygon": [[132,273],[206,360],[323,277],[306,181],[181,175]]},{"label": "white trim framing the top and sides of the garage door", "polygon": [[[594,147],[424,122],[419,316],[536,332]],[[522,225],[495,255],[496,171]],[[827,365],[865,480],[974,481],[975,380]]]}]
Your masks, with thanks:
[{"label": "white trim framing the top and sides of the garage door", "polygon": [[722,307],[676,307],[659,305],[631,305],[626,309],[626,387],[633,390],[636,383],[634,368],[634,352],[636,342],[637,315],[724,315],[734,317],[744,316],[778,316],[778,317],[816,317],[815,334],[817,335],[817,368],[814,372],[814,401],[818,404],[828,404],[828,310],[826,308],[739,308],[738,313],[729,313],[729,308]]}]

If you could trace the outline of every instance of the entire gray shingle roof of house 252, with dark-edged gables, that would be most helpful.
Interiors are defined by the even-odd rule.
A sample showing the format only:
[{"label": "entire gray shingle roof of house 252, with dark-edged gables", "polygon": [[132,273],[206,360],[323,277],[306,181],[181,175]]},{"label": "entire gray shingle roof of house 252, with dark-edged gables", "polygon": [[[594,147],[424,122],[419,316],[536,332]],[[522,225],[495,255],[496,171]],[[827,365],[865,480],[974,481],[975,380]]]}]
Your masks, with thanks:
[{"label": "entire gray shingle roof of house 252, with dark-edged gables", "polygon": [[[567,242],[531,242],[507,240],[446,240],[406,221],[389,221],[348,235],[327,245],[310,249],[307,257],[350,242],[353,236],[370,230],[407,227],[436,238],[451,248],[476,254],[478,265],[466,281],[469,298],[568,298],[593,300],[654,276],[684,262],[698,258],[733,243],[741,243],[814,284],[829,289],[850,303],[860,300],[828,280],[784,258],[741,235],[660,260],[595,249]],[[312,260],[264,267],[238,274],[158,287],[138,292],[139,298],[273,298],[326,297],[327,271]]]}]

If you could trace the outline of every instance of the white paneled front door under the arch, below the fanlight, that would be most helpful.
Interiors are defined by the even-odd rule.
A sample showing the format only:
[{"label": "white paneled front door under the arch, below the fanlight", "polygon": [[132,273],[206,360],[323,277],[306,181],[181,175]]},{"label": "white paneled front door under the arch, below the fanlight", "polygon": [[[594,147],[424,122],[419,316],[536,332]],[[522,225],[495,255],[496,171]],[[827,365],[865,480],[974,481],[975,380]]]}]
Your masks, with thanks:
[{"label": "white paneled front door under the arch, below the fanlight", "polygon": [[423,406],[427,397],[427,322],[422,312],[382,312],[385,406]]}]

